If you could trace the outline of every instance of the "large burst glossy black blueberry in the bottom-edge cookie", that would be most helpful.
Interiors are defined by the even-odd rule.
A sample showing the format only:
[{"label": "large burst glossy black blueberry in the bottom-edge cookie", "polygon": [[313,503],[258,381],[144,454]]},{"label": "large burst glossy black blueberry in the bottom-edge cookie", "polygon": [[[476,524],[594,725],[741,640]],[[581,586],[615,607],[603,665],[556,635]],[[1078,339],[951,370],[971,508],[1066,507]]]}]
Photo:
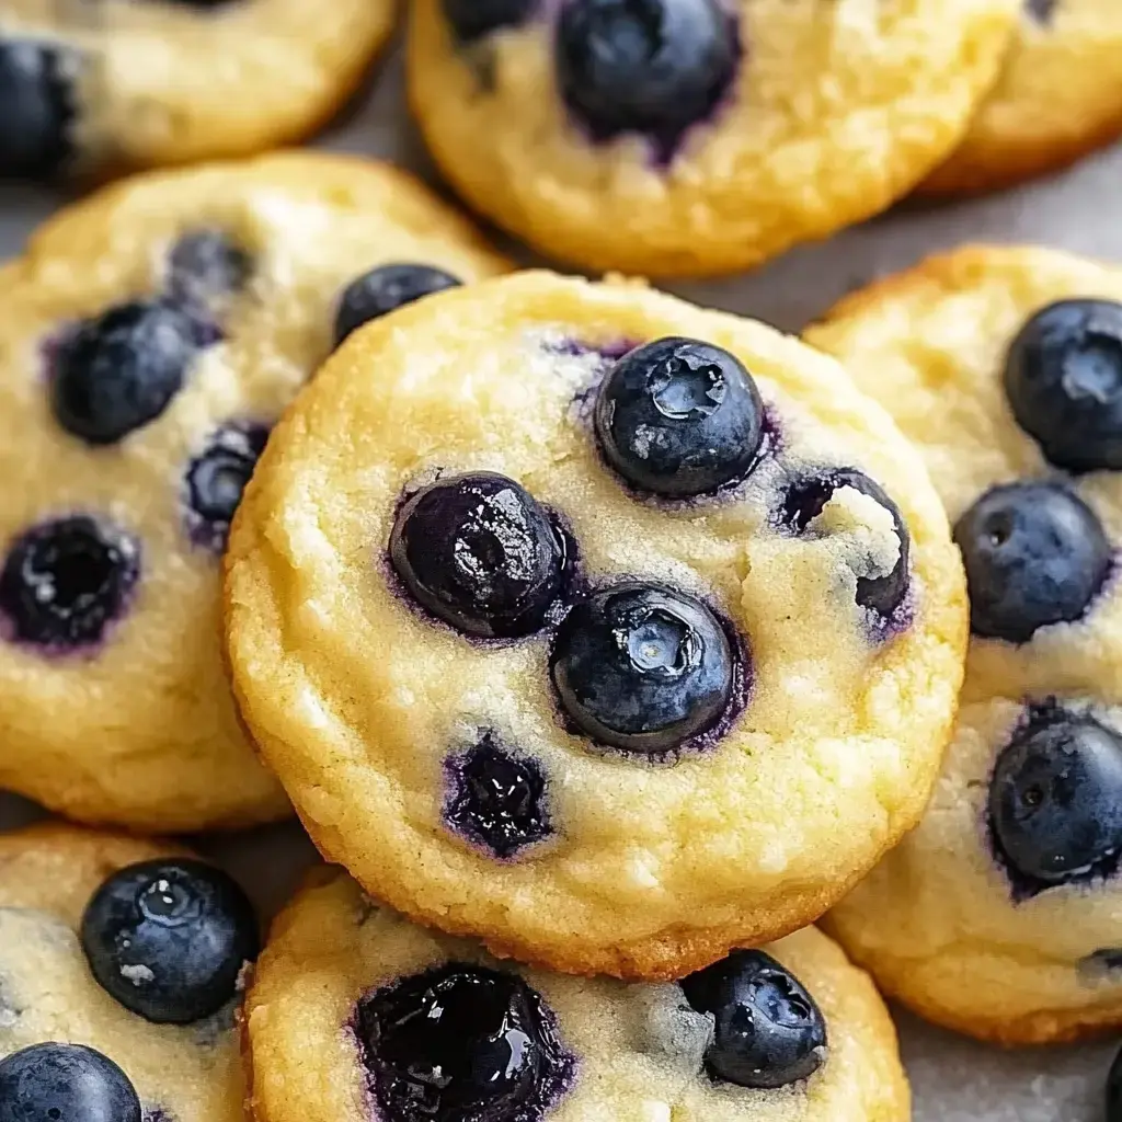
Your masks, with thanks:
[{"label": "large burst glossy black blueberry in the bottom-edge cookie", "polygon": [[358,1032],[384,1118],[535,1122],[572,1057],[541,996],[515,974],[452,963],[362,997]]}]

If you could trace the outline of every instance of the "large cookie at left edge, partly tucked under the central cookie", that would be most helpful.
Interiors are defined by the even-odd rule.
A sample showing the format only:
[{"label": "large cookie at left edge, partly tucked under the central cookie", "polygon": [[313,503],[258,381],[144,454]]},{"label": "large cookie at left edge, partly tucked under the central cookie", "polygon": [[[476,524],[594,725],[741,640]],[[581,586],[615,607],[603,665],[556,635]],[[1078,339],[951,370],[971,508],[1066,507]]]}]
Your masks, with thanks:
[{"label": "large cookie at left edge, partly tucked under the central cookie", "polygon": [[222,668],[241,488],[341,324],[503,267],[404,173],[294,154],[125,183],[0,270],[0,788],[162,833],[287,812]]}]

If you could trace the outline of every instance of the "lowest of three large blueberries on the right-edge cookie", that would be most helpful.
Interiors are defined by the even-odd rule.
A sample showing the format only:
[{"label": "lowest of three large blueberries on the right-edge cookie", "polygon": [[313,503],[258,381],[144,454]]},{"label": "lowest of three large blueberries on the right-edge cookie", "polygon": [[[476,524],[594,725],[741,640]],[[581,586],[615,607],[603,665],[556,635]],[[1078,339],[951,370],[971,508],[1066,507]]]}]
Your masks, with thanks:
[{"label": "lowest of three large blueberries on the right-edge cookie", "polygon": [[988,815],[1021,894],[1113,872],[1122,853],[1122,737],[1091,715],[1039,707],[997,757]]}]

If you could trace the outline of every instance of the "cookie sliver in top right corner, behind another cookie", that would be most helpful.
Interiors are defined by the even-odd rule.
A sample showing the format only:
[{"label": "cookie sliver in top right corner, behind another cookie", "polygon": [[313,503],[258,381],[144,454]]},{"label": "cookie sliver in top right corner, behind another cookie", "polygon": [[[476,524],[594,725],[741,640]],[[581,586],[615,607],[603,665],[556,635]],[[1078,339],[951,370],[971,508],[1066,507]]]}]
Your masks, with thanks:
[{"label": "cookie sliver in top right corner, behind another cookie", "polygon": [[1024,0],[1020,31],[966,139],[928,194],[1008,186],[1122,134],[1122,10],[1113,0]]}]

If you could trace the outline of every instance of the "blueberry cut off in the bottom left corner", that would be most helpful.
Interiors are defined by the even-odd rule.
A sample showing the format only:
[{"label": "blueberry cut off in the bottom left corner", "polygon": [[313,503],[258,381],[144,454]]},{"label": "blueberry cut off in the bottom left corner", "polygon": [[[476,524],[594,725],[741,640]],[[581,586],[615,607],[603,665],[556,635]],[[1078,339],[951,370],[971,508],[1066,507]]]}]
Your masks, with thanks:
[{"label": "blueberry cut off in the bottom left corner", "polygon": [[140,1100],[108,1056],[31,1045],[0,1059],[0,1122],[140,1122]]}]

